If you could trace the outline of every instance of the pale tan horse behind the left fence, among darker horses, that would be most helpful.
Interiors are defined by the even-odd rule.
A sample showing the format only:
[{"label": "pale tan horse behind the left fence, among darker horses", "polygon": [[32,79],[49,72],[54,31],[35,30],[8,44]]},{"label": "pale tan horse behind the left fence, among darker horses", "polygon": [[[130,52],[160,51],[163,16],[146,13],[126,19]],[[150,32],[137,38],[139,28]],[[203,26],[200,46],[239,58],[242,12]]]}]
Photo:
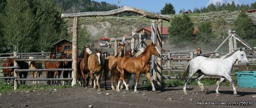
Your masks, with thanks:
[{"label": "pale tan horse behind the left fence, among darker horses", "polygon": [[[29,57],[29,59],[32,60],[34,59],[34,57]],[[30,69],[42,69],[42,63],[37,61],[29,61],[28,66],[30,66]],[[39,72],[32,71],[31,73],[32,73],[32,78],[36,78],[37,73],[38,73],[38,78],[40,78],[40,75],[42,75],[42,71],[39,71]],[[37,83],[39,84],[39,81],[37,81]],[[33,81],[33,84],[36,84],[36,81]]]}]

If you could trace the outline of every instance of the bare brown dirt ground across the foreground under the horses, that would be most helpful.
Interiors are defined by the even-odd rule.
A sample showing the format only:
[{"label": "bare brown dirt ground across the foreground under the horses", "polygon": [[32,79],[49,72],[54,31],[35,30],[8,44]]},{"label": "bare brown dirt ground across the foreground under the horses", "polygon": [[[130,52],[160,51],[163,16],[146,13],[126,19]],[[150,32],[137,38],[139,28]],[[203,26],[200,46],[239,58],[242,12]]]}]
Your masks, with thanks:
[{"label": "bare brown dirt ground across the foreground under the horses", "polygon": [[[103,88],[103,81],[101,82]],[[0,107],[30,107],[30,108],[255,108],[256,89],[236,87],[238,97],[233,95],[232,87],[220,87],[220,96],[216,96],[216,86],[205,87],[206,92],[200,92],[198,86],[188,86],[188,95],[184,95],[183,86],[164,87],[151,91],[151,87],[138,87],[139,93],[121,90],[114,92],[110,89],[98,92],[89,87],[73,87],[66,89],[47,89],[22,91],[0,95]],[[109,95],[106,95],[106,94]],[[252,101],[252,106],[227,105],[197,105],[200,102],[236,102]]]}]

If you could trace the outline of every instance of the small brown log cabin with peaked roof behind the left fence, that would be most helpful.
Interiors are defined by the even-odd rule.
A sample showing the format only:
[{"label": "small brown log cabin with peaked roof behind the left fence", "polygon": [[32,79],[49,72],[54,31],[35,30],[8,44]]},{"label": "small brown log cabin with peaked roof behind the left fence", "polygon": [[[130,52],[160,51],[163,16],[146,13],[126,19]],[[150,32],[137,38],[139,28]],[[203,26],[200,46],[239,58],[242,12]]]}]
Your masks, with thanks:
[{"label": "small brown log cabin with peaked roof behind the left fence", "polygon": [[51,51],[59,53],[64,51],[64,53],[72,54],[72,42],[67,39],[59,40],[58,42],[54,43]]}]

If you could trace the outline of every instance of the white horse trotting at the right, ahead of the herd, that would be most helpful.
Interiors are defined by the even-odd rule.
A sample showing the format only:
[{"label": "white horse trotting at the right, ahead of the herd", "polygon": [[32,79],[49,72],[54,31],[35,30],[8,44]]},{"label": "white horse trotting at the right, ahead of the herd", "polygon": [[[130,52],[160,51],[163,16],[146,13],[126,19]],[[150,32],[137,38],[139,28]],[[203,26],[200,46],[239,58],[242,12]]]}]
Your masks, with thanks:
[{"label": "white horse trotting at the right, ahead of the herd", "polygon": [[186,91],[186,85],[188,83],[188,80],[197,72],[199,75],[196,78],[196,82],[201,88],[201,91],[204,92],[204,85],[200,83],[200,79],[202,79],[205,75],[209,76],[222,76],[220,79],[220,83],[218,84],[218,87],[216,89],[216,94],[219,95],[219,89],[221,83],[224,81],[224,79],[228,79],[228,81],[231,82],[234,90],[234,95],[237,96],[236,88],[234,85],[234,81],[230,77],[230,73],[232,72],[232,68],[234,66],[234,63],[239,60],[242,63],[244,63],[245,66],[248,66],[248,60],[246,58],[246,54],[244,52],[244,49],[240,48],[240,50],[234,52],[230,57],[223,57],[223,58],[206,58],[203,56],[198,56],[194,59],[192,59],[190,62],[188,62],[188,65],[183,71],[182,78],[184,79],[188,73],[189,68],[189,74],[186,77],[186,83],[184,85],[184,94],[188,94]]}]

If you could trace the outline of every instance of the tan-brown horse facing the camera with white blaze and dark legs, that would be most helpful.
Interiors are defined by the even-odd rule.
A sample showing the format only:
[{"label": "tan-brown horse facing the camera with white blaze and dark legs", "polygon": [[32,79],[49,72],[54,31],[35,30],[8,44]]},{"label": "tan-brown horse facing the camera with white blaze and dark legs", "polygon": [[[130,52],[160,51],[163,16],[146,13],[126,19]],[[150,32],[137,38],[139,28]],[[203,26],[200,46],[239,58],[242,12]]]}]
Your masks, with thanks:
[{"label": "tan-brown horse facing the camera with white blaze and dark legs", "polygon": [[[88,69],[90,71],[90,76],[91,76],[91,81],[94,82],[92,83],[93,88],[96,89],[96,85],[98,85],[98,91],[100,90],[100,77],[102,74],[102,68],[103,68],[103,60],[102,60],[102,49],[95,51],[95,55],[91,55],[88,58]],[[95,77],[94,74],[97,74],[97,83],[95,83]]]}]

